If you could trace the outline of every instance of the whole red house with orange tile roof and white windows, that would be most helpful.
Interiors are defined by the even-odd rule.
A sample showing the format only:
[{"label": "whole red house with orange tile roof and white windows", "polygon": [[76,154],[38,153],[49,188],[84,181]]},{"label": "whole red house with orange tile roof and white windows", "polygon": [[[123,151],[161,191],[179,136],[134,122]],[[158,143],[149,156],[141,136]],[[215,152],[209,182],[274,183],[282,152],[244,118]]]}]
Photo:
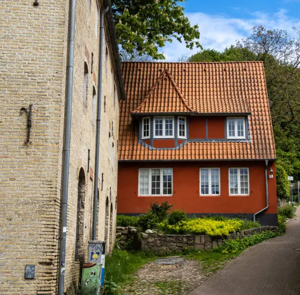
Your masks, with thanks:
[{"label": "whole red house with orange tile roof and white windows", "polygon": [[123,63],[118,214],[164,202],[277,224],[262,62]]}]

